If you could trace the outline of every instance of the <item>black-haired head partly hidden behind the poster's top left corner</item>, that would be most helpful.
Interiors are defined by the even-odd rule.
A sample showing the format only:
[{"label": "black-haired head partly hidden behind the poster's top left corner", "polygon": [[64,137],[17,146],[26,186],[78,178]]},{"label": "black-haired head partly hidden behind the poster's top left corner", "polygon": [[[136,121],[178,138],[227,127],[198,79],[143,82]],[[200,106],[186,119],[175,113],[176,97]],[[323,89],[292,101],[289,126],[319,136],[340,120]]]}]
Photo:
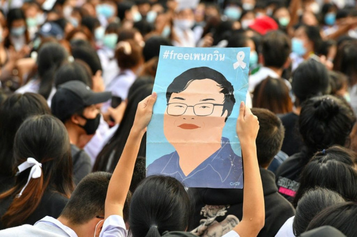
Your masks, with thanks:
[{"label": "black-haired head partly hidden behind the poster's top left corner", "polygon": [[155,35],[148,38],[143,48],[145,61],[148,61],[154,57],[159,57],[161,45],[172,46],[170,40],[162,36]]}]

